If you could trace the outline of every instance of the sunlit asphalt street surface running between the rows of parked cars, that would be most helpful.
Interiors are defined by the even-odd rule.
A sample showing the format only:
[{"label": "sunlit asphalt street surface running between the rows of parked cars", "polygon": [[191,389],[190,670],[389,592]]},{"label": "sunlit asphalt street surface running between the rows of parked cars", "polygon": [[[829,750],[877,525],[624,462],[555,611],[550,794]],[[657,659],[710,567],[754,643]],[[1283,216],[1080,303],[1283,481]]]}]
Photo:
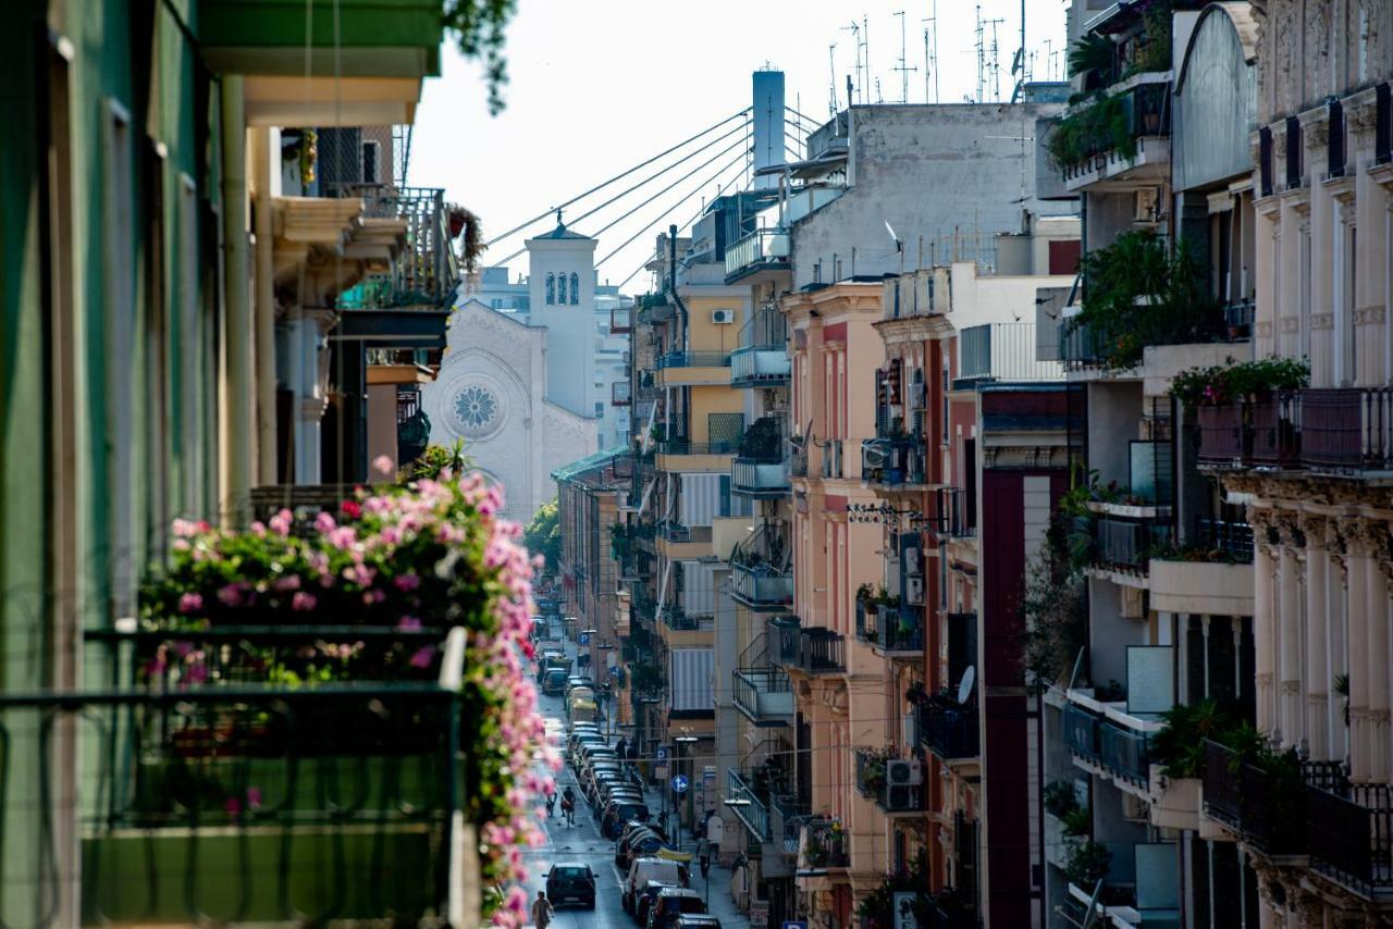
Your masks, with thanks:
[{"label": "sunlit asphalt street surface running between the rows of parked cars", "polygon": [[[566,652],[575,657],[575,643],[566,642]],[[561,696],[539,695],[539,709],[546,717],[547,737],[559,742],[566,741],[566,701]],[[617,737],[616,737],[617,738]],[[557,791],[566,790],[567,784],[579,794],[579,784],[570,767],[564,767],[556,776]],[[645,787],[649,809],[662,808],[662,795],[652,786]],[[634,918],[624,912],[620,903],[623,875],[614,866],[614,843],[600,836],[599,823],[589,805],[579,799],[575,808],[575,826],[568,827],[561,816],[560,805],[556,815],[546,818],[545,808],[540,818],[546,829],[547,844],[527,852],[528,872],[531,873],[528,897],[536,898],[536,891],[546,887],[546,872],[559,864],[586,864],[596,877],[595,912],[577,908],[557,908],[553,926],[556,929],[570,929],[571,926],[614,926],[616,929],[632,929]],[[684,837],[684,848],[691,847],[691,837]],[[730,897],[730,869],[712,866],[710,886],[702,880],[701,869],[692,862],[692,889],[706,896],[708,910],[720,919],[723,929],[748,929],[749,921],[740,915]],[[709,893],[708,893],[709,890]]]}]

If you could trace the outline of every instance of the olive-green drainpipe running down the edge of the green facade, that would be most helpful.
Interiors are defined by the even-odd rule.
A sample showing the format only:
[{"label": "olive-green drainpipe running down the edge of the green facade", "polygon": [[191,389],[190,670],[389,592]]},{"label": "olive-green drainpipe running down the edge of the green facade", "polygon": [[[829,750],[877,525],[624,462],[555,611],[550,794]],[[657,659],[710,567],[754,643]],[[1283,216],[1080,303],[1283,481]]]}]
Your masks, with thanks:
[{"label": "olive-green drainpipe running down the edge of the green facade", "polygon": [[252,318],[247,265],[247,114],[241,75],[223,78],[223,260],[227,312],[227,372],[223,384],[224,525],[247,521],[251,508]]}]

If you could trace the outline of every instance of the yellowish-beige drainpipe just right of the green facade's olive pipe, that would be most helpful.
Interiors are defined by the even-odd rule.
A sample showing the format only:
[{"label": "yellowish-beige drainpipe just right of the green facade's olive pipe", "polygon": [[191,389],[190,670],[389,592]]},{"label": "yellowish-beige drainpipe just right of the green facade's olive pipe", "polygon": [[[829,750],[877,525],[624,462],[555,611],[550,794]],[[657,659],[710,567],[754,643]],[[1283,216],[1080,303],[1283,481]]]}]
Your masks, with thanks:
[{"label": "yellowish-beige drainpipe just right of the green facade's olive pipe", "polygon": [[256,483],[279,483],[276,474],[276,281],[272,230],[272,152],[280,131],[255,128],[252,181],[256,189]]}]

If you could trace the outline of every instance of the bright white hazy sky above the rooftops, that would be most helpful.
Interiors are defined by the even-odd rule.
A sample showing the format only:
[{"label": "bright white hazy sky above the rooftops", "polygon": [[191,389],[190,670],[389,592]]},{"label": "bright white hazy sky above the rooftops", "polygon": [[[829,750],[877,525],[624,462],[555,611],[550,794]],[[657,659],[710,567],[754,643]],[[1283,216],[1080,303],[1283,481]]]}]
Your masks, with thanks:
[{"label": "bright white hazy sky above the rooftops", "polygon": [[[986,22],[985,45],[990,65],[992,25],[996,24],[999,81],[988,81],[985,97],[1009,99],[1014,78],[1011,58],[1020,45],[1021,0],[937,0],[937,95],[943,103],[963,103],[978,92],[976,21]],[[1034,79],[1063,77],[1064,14],[1067,0],[1025,0],[1027,45]],[[624,171],[723,117],[749,106],[751,71],[775,67],[786,74],[787,103],[814,123],[826,121],[830,107],[832,61],[836,67],[837,106],[844,107],[846,82],[855,79],[857,40],[850,31],[865,19],[869,78],[862,77],[866,100],[897,103],[904,84],[900,64],[900,24],[904,11],[905,60],[918,68],[907,75],[910,103],[933,102],[933,74],[925,86],[925,39],[933,45],[935,0],[518,0],[508,26],[510,84],[507,109],[490,117],[476,63],[464,61],[447,40],[442,77],[428,79],[417,110],[408,180],[444,187],[483,220],[486,238],[513,228],[577,194]],[[876,89],[879,79],[879,91]],[[928,97],[925,96],[928,93]],[[858,100],[859,102],[859,95]],[[727,128],[734,127],[729,124]],[[790,125],[790,130],[794,130]],[[795,131],[795,130],[794,130]],[[567,208],[567,224],[598,234],[628,209],[656,195],[683,174],[737,141],[733,135],[673,171],[579,219],[609,195],[618,194],[683,155],[716,138],[720,131],[687,146],[621,182]],[[639,267],[653,248],[653,237],[667,223],[687,223],[699,210],[696,191],[708,199],[727,181],[742,184],[742,163],[731,164],[740,146],[716,157],[667,194],[638,209],[613,228],[599,233],[596,259],[616,251],[599,269],[600,281],[620,283]],[[736,180],[741,175],[740,180]],[[683,198],[685,203],[677,205]],[[657,221],[651,230],[641,231]],[[527,234],[543,233],[552,220],[496,244],[485,263],[500,263],[522,248]],[[521,258],[508,262],[514,274],[525,270]],[[648,274],[637,274],[627,292],[646,290]]]}]

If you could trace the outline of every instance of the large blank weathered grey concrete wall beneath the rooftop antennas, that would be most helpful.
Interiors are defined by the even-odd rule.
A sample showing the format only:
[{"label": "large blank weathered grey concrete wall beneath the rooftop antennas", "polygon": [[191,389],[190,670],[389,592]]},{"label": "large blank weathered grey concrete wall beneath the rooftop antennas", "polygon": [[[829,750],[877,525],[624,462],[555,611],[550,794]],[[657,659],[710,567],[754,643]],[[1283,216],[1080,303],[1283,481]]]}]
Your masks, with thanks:
[{"label": "large blank weathered grey concrete wall beneath the rooftop antennas", "polygon": [[[995,251],[996,233],[1022,231],[1021,210],[1068,213],[1067,202],[1034,198],[1035,152],[999,136],[1027,138],[1057,104],[858,106],[851,109],[850,189],[793,227],[794,287],[834,276],[885,274]],[[989,138],[990,136],[990,138]],[[1024,173],[1022,173],[1024,171]],[[1027,199],[1020,199],[1021,188]],[[896,252],[886,221],[904,242]],[[978,241],[983,245],[978,247]],[[855,247],[855,267],[851,249]],[[931,259],[932,255],[932,259]]]}]

